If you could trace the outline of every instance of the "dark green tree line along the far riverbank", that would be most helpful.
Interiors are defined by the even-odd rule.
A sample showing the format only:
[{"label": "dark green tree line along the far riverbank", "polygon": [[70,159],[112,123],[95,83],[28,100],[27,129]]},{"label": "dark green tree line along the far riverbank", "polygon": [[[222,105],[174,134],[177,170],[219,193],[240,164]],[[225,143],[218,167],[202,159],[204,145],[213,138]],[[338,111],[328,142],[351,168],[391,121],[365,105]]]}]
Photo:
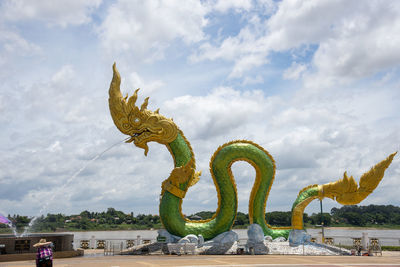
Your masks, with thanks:
[{"label": "dark green tree line along the far riverbank", "polygon": [[[212,218],[214,212],[201,211],[187,218],[205,220]],[[17,230],[22,231],[33,219],[28,216],[8,215]],[[267,222],[272,226],[291,225],[290,211],[273,211],[265,214]],[[400,228],[400,207],[393,205],[343,206],[332,208],[330,213],[304,213],[304,224],[312,227],[323,224],[325,226],[358,226],[358,227],[397,227]],[[249,225],[248,214],[238,212],[234,228],[246,228]],[[6,225],[0,224],[0,231],[9,231]],[[76,215],[47,214],[36,219],[31,232],[47,231],[88,231],[88,230],[143,230],[160,229],[162,224],[158,215],[124,213],[108,208],[104,212],[82,211]]]}]

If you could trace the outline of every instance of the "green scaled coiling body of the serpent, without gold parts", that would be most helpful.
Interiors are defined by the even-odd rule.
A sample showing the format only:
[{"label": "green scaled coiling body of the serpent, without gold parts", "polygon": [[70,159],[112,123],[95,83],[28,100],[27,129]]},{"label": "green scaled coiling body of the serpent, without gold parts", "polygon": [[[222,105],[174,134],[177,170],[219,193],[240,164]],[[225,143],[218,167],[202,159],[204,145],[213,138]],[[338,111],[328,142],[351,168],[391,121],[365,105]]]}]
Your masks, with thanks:
[{"label": "green scaled coiling body of the serpent, without gold parts", "polygon": [[[194,157],[190,145],[181,133],[168,146],[175,159],[175,167],[186,165]],[[211,220],[185,220],[181,213],[182,199],[168,191],[164,192],[160,202],[160,217],[169,233],[177,236],[201,234],[207,240],[231,229],[237,213],[238,200],[230,168],[239,160],[249,162],[256,170],[256,181],[252,190],[254,197],[250,198],[249,203],[250,221],[259,224],[264,234],[273,238],[288,236],[288,229],[273,229],[265,222],[265,205],[275,174],[274,160],[261,147],[248,141],[235,141],[222,146],[211,160],[210,169],[219,194],[219,208]],[[187,191],[188,183],[182,183],[179,187]]]}]

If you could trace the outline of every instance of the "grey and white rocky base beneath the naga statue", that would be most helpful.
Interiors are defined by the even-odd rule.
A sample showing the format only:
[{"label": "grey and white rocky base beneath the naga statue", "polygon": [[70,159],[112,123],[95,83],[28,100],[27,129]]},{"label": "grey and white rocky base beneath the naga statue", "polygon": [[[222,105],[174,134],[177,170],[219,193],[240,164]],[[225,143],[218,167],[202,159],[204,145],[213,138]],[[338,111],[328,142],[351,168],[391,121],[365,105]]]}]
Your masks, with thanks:
[{"label": "grey and white rocky base beneath the naga statue", "polygon": [[335,246],[310,242],[310,235],[304,230],[292,230],[289,240],[284,237],[272,239],[264,236],[261,226],[252,224],[247,230],[246,244],[239,243],[239,237],[234,231],[224,232],[215,238],[204,241],[201,235],[187,235],[183,238],[171,235],[166,230],[158,230],[158,240],[130,248],[123,254],[148,254],[160,251],[164,254],[182,255],[349,255],[350,251]]}]

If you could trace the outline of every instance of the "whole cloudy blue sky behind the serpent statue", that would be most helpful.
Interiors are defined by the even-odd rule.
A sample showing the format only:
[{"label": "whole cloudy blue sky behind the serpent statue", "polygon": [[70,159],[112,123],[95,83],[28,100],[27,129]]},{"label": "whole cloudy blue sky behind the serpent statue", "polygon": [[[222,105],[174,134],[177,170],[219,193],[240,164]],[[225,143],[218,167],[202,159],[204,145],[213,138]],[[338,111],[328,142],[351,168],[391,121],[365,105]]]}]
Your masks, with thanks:
[{"label": "whole cloudy blue sky behind the serpent statue", "polygon": [[[400,149],[399,1],[4,0],[0,14],[0,213],[158,213],[173,162],[121,142],[114,61],[123,93],[140,87],[192,143],[186,214],[216,209],[208,162],[231,140],[274,156],[267,211]],[[247,213],[255,172],[233,169]],[[399,206],[399,187],[397,156],[362,204]]]}]

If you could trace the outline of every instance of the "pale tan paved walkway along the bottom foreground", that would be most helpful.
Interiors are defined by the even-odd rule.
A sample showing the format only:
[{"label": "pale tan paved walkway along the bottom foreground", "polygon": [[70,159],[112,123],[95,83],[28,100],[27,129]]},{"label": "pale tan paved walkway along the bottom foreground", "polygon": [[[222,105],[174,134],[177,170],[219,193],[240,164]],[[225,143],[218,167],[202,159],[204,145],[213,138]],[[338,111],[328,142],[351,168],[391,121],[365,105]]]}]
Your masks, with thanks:
[{"label": "pale tan paved walkway along the bottom foreground", "polygon": [[[91,256],[55,259],[53,266],[397,266],[400,253],[385,253],[384,256],[287,256],[287,255],[150,255],[150,256]],[[34,261],[2,262],[0,266],[35,266]]]}]

